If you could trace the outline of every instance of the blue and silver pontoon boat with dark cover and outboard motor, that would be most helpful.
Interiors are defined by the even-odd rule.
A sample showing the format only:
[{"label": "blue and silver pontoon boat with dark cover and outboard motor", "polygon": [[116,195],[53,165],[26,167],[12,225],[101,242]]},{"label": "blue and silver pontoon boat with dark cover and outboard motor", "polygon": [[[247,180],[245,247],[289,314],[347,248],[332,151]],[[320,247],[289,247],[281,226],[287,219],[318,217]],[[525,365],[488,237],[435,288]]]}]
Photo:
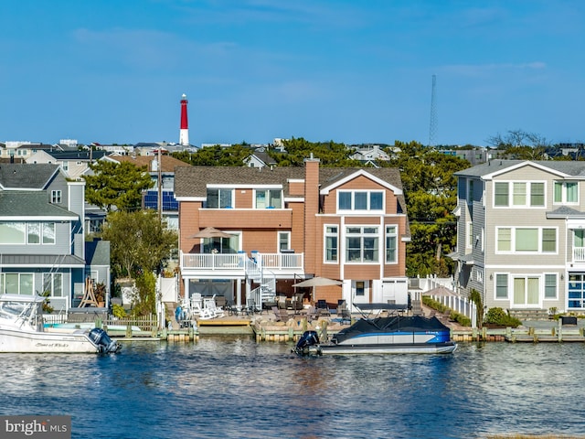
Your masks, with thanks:
[{"label": "blue and silver pontoon boat with dark cover and outboard motor", "polygon": [[450,354],[457,344],[437,317],[404,316],[393,304],[363,304],[361,310],[390,311],[388,316],[363,316],[351,327],[320,343],[316,331],[305,331],[293,351],[302,356],[348,354]]}]

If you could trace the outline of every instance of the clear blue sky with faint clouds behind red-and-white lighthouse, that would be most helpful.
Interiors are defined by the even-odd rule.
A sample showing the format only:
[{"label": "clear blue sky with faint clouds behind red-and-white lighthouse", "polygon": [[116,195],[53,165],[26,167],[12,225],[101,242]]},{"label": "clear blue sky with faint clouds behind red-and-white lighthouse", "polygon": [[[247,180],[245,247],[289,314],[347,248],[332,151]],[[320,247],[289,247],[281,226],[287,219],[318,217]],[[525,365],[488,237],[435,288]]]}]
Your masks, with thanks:
[{"label": "clear blue sky with faint clouds behind red-and-white lighthouse", "polygon": [[0,141],[585,141],[581,0],[2,0]]}]

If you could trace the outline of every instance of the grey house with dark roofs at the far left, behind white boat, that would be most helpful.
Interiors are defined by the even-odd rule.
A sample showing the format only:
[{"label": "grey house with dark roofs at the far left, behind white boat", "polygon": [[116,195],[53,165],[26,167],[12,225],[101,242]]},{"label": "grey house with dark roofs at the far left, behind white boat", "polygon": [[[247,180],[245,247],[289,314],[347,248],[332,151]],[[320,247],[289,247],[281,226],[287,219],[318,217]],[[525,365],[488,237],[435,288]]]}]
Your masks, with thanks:
[{"label": "grey house with dark roofs at the far left, behind white boat", "polygon": [[48,294],[64,312],[87,277],[109,288],[109,246],[84,239],[84,189],[58,165],[0,165],[0,294]]}]

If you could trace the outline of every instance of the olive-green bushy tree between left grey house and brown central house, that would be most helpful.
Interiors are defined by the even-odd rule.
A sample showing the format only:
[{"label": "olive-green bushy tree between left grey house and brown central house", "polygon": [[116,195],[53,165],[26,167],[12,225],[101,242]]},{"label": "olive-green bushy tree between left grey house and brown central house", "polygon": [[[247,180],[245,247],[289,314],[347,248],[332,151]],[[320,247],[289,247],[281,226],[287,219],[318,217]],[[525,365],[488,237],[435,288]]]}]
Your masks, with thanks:
[{"label": "olive-green bushy tree between left grey house and brown central house", "polygon": [[[110,212],[101,238],[110,241],[116,274],[126,274],[131,279],[138,279],[144,273],[160,272],[163,262],[178,244],[176,232],[167,230],[154,210]],[[138,284],[137,288],[140,290]],[[142,299],[147,295],[136,295],[135,305],[142,306]],[[154,312],[154,307],[148,305],[147,308],[148,312]]]}]

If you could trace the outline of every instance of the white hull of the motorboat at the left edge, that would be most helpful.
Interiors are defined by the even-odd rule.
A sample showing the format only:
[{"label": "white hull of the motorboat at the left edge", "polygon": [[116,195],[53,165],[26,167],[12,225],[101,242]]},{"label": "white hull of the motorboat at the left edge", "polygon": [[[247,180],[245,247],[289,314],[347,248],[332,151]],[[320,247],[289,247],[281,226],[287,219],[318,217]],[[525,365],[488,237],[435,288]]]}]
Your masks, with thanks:
[{"label": "white hull of the motorboat at the left edge", "polygon": [[73,333],[26,332],[0,328],[2,353],[100,353],[84,331]]}]

